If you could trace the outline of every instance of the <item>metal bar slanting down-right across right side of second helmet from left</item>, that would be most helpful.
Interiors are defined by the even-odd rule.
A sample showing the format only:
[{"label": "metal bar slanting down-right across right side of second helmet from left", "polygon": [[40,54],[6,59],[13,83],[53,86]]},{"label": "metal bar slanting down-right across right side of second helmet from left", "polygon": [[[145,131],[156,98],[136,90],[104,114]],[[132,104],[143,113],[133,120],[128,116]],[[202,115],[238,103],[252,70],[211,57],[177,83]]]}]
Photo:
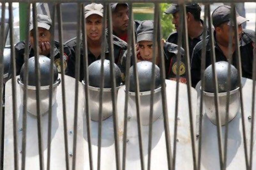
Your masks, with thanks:
[{"label": "metal bar slanting down-right across right side of second helmet from left", "polygon": [[116,152],[116,169],[120,169],[120,156],[119,156],[119,135],[118,135],[118,118],[116,109],[116,76],[114,69],[114,46],[113,46],[113,28],[112,28],[112,11],[111,6],[108,4],[107,7],[107,18],[108,18],[108,50],[110,52],[110,76],[111,76],[111,96],[113,106],[113,126],[114,126],[114,137],[115,137],[115,152]]}]

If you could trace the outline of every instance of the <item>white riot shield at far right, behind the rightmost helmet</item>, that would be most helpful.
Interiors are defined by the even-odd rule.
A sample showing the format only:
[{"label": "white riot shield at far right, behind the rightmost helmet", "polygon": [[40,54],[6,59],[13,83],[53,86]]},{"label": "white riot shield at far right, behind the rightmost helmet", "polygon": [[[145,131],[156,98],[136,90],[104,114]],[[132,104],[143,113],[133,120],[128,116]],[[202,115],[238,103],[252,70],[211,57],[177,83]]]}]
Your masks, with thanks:
[{"label": "white riot shield at far right, behind the rightmost helmet", "polygon": [[[197,121],[196,129],[199,129],[199,114],[200,114],[200,86],[201,81],[196,85],[198,94],[197,100]],[[242,91],[244,102],[244,120],[245,132],[247,137],[247,150],[250,151],[250,133],[251,133],[251,119],[249,116],[252,114],[252,80],[242,78]],[[214,103],[213,103],[214,105]],[[220,103],[220,107],[226,108],[226,103]],[[203,108],[203,110],[205,110]],[[221,127],[222,130],[222,144],[224,144],[225,126]],[[201,155],[201,169],[205,170],[218,170],[220,169],[220,159],[218,150],[217,126],[214,125],[205,111],[203,112],[202,120],[202,155]],[[255,138],[255,133],[254,133]],[[253,155],[256,153],[254,146]],[[255,164],[256,159],[252,159],[252,165]],[[244,156],[244,140],[242,128],[241,109],[237,112],[235,118],[228,123],[228,147],[227,147],[227,168],[233,169],[246,169],[245,156]],[[254,166],[252,169],[255,169]]]}]

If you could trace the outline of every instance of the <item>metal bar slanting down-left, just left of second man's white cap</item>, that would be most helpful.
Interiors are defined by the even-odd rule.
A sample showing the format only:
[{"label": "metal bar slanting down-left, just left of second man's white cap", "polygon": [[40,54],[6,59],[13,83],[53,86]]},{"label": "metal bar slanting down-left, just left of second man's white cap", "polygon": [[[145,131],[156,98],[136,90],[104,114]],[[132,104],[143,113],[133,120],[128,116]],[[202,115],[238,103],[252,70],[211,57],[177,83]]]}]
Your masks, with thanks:
[{"label": "metal bar slanting down-left, just left of second man's white cap", "polygon": [[[78,107],[78,83],[80,78],[80,47],[81,47],[81,15],[82,3],[77,3],[77,30],[76,30],[76,84],[75,84],[75,116],[74,116],[74,140],[73,140],[73,160],[72,170],[76,169],[76,140],[77,140],[77,107]],[[84,15],[84,14],[83,14]]]}]

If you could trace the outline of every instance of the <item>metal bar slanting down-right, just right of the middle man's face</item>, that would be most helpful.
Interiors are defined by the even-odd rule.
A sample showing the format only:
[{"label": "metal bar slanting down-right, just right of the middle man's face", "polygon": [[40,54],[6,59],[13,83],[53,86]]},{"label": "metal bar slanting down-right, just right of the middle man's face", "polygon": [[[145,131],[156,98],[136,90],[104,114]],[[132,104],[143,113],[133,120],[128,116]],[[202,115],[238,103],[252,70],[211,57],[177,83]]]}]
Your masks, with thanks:
[{"label": "metal bar slanting down-right, just right of the middle man's face", "polygon": [[[159,9],[159,4],[155,6],[155,8]],[[157,24],[157,48],[158,48],[158,56],[160,57],[160,78],[161,78],[161,95],[162,95],[162,105],[163,105],[163,116],[164,116],[164,134],[165,134],[165,143],[166,143],[166,153],[167,153],[167,162],[168,169],[172,169],[172,152],[171,152],[171,141],[170,141],[170,129],[169,129],[169,119],[168,119],[168,110],[167,110],[167,99],[166,99],[166,85],[165,85],[165,64],[164,64],[164,53],[163,46],[160,43],[162,40],[162,32],[161,32],[161,19],[160,15],[158,15]]]}]

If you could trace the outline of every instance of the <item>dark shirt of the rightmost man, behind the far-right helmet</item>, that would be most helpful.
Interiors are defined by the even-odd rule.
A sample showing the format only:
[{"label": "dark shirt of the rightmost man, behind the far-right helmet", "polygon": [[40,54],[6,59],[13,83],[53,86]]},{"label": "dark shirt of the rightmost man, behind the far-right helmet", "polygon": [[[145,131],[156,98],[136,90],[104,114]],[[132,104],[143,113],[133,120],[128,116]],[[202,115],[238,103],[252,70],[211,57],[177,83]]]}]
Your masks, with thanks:
[{"label": "dark shirt of the rightmost man, behind the far-right helmet", "polygon": [[[252,42],[255,37],[255,31],[243,29],[242,36],[240,39],[240,54],[241,54],[241,65],[242,65],[242,76],[245,78],[252,78],[252,59],[253,59],[253,46]],[[218,46],[215,38],[215,56],[216,62],[227,61],[226,56]],[[206,55],[205,55],[205,68],[211,65],[211,45],[209,41],[209,36],[206,38]],[[192,86],[195,87],[198,81],[201,79],[201,53],[203,49],[203,41],[200,41],[193,51],[192,61],[191,61],[191,79]],[[233,53],[232,65],[236,68],[236,51]]]}]

